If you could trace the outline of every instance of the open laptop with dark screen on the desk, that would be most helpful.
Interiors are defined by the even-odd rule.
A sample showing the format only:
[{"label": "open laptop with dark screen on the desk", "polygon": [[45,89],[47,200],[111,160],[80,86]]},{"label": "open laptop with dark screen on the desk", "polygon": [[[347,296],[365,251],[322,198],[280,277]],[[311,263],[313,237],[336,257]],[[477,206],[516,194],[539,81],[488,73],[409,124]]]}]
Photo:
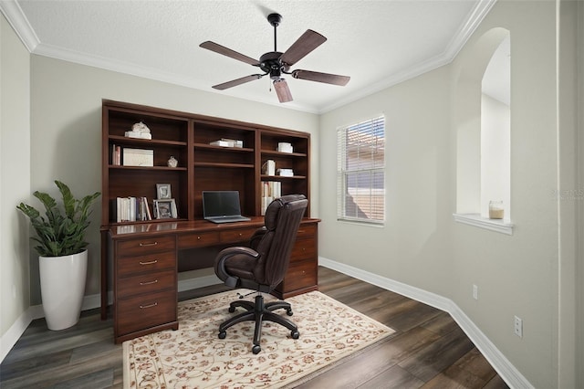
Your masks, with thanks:
[{"label": "open laptop with dark screen on the desk", "polygon": [[238,191],[203,191],[203,218],[213,223],[245,222]]}]

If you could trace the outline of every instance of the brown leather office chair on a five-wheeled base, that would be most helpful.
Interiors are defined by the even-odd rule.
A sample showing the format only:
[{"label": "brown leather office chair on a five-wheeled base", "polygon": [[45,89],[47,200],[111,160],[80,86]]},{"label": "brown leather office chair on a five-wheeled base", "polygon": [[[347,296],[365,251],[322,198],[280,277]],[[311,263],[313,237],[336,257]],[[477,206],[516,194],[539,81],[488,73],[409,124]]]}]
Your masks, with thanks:
[{"label": "brown leather office chair on a five-wheeled base", "polygon": [[274,200],[266,209],[265,226],[255,232],[250,247],[228,247],[215,258],[215,274],[226,286],[257,291],[255,302],[235,300],[229,305],[230,312],[235,312],[236,307],[245,308],[245,312],[221,323],[220,339],[225,338],[229,327],[241,321],[255,321],[252,347],[255,354],[261,351],[262,321],[283,325],[291,331],[293,339],[300,336],[296,324],[273,312],[281,308],[292,316],[290,304],[279,300],[265,303],[262,293],[270,293],[284,279],[307,205],[304,195],[285,195]]}]

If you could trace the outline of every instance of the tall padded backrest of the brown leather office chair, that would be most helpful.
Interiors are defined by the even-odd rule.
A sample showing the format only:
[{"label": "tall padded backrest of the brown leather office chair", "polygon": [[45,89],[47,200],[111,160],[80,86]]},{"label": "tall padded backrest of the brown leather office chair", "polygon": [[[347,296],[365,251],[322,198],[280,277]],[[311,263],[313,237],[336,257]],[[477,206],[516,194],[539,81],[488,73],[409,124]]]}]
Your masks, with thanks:
[{"label": "tall padded backrest of the brown leather office chair", "polygon": [[260,254],[255,279],[272,288],[286,275],[298,227],[308,206],[304,195],[285,195],[267,206],[266,233],[255,247]]}]

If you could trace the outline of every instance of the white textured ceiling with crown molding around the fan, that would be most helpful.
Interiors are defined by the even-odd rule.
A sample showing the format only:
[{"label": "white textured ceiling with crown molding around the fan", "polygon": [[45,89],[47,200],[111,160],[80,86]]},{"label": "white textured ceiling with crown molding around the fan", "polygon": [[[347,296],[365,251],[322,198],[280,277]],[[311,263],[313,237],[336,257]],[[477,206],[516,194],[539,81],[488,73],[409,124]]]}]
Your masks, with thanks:
[{"label": "white textured ceiling with crown molding around the fan", "polygon": [[248,57],[274,49],[266,20],[277,12],[277,49],[308,28],[328,38],[293,68],[350,76],[345,87],[288,78],[294,101],[323,112],[450,62],[495,0],[2,0],[35,54],[194,89],[277,104],[269,78],[211,87],[257,68],[199,47],[212,40]]}]

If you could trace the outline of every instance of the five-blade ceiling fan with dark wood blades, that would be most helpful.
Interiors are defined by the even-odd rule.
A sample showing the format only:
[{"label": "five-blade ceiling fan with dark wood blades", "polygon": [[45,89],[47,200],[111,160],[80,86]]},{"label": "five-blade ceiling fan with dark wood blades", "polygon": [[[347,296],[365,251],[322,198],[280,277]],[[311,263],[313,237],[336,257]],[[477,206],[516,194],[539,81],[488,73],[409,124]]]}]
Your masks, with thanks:
[{"label": "five-blade ceiling fan with dark wood blades", "polygon": [[308,81],[324,82],[341,86],[347,85],[350,79],[350,77],[347,76],[303,69],[290,70],[290,67],[296,64],[297,61],[306,57],[312,50],[322,45],[327,40],[326,37],[318,34],[318,32],[308,29],[292,44],[292,46],[288,47],[284,53],[281,53],[277,51],[276,28],[282,22],[282,16],[279,14],[270,14],[267,16],[267,21],[270,25],[274,26],[274,51],[267,52],[260,57],[259,60],[247,57],[231,48],[221,46],[209,40],[199,45],[200,47],[240,60],[264,71],[263,74],[252,74],[250,76],[242,77],[241,79],[233,79],[222,84],[214,85],[214,89],[224,90],[232,88],[237,85],[245,84],[245,82],[253,81],[254,79],[261,79],[269,74],[270,79],[274,81],[274,89],[276,89],[278,100],[280,100],[280,102],[288,102],[292,101],[292,94],[290,93],[286,79],[282,77],[283,74],[289,74],[295,79],[307,79]]}]

